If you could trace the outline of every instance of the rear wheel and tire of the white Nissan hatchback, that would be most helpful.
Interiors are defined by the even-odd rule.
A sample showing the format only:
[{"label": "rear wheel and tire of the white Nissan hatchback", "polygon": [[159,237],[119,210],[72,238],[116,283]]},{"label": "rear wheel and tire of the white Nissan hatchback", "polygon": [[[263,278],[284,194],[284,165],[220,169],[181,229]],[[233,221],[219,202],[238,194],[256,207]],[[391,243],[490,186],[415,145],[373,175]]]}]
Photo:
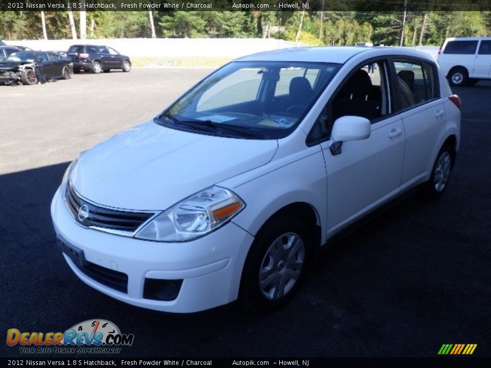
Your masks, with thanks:
[{"label": "rear wheel and tire of the white Nissan hatchback", "polygon": [[449,144],[445,144],[436,155],[430,180],[426,183],[424,194],[428,199],[436,200],[440,198],[445,189],[447,189],[453,160],[454,151]]}]

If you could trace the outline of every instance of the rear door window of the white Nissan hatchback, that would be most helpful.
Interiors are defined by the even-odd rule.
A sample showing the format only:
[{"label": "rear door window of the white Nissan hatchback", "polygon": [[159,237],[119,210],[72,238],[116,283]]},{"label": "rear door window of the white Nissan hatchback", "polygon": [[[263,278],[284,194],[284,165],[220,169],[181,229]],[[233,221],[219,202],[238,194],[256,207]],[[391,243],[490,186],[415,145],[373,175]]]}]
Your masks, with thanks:
[{"label": "rear door window of the white Nissan hatchback", "polygon": [[395,59],[394,68],[399,111],[438,97],[438,78],[433,64]]}]

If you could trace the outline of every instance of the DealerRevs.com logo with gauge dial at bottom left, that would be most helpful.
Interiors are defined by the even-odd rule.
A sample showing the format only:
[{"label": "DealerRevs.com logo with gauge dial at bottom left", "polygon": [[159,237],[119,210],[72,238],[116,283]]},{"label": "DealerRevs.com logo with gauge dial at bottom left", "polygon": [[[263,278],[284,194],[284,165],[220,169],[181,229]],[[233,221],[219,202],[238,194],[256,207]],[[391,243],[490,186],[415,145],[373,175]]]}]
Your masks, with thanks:
[{"label": "DealerRevs.com logo with gauge dial at bottom left", "polygon": [[118,354],[122,346],[131,346],[134,338],[104,319],[89,319],[65,332],[7,331],[7,345],[18,345],[24,354]]}]

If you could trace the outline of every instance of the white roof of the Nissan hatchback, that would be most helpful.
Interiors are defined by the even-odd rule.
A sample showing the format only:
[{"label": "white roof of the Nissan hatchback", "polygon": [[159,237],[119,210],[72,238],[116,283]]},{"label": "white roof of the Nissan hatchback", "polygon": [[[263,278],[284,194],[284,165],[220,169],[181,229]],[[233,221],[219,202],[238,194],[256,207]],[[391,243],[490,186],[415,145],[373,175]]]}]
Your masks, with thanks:
[{"label": "white roof of the Nissan hatchback", "polygon": [[236,59],[235,61],[301,61],[344,64],[356,55],[382,57],[387,55],[414,56],[431,60],[421,51],[397,47],[364,47],[364,46],[322,46],[301,47],[266,51]]}]

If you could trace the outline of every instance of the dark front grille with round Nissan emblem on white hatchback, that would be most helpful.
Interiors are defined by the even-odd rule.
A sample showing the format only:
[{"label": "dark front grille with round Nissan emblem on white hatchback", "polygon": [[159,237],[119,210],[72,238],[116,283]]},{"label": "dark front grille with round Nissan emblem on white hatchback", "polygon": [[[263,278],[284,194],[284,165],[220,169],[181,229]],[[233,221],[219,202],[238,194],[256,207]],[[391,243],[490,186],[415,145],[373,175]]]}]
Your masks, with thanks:
[{"label": "dark front grille with round Nissan emblem on white hatchback", "polygon": [[[136,229],[154,214],[149,212],[129,212],[104,208],[82,198],[69,184],[66,186],[65,200],[75,220],[86,227],[135,232]],[[79,216],[80,208],[85,216]]]}]

